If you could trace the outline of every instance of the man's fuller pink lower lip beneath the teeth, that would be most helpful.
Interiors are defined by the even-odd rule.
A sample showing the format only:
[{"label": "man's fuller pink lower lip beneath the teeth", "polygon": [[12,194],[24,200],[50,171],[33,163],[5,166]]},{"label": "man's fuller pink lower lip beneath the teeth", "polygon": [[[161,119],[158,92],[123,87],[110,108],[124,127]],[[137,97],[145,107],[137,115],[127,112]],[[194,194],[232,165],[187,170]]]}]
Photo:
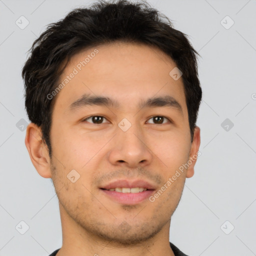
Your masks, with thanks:
[{"label": "man's fuller pink lower lip beneath the teeth", "polygon": [[110,191],[107,189],[100,189],[111,199],[123,203],[123,204],[136,204],[147,199],[154,190],[145,190],[138,193],[122,193],[116,191]]}]

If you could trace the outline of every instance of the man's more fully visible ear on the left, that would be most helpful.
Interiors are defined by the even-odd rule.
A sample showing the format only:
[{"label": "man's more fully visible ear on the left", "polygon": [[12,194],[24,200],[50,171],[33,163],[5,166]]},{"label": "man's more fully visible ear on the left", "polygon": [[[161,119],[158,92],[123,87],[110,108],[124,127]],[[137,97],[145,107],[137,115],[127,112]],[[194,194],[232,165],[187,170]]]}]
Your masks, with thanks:
[{"label": "man's more fully visible ear on the left", "polygon": [[26,127],[25,145],[30,159],[39,173],[44,178],[50,178],[50,157],[48,148],[42,140],[41,129],[34,123]]}]

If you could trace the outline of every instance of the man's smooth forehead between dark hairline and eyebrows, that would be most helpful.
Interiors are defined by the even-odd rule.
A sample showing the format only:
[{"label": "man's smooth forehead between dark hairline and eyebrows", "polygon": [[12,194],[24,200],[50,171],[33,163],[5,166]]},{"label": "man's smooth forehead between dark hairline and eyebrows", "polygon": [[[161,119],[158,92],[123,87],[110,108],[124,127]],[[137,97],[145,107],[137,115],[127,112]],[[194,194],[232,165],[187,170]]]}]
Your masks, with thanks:
[{"label": "man's smooth forehead between dark hairline and eyebrows", "polygon": [[87,48],[73,55],[64,69],[59,79],[64,86],[55,104],[66,108],[85,93],[110,97],[119,106],[169,95],[185,108],[182,79],[169,75],[175,66],[160,49],[145,44],[115,42]]}]

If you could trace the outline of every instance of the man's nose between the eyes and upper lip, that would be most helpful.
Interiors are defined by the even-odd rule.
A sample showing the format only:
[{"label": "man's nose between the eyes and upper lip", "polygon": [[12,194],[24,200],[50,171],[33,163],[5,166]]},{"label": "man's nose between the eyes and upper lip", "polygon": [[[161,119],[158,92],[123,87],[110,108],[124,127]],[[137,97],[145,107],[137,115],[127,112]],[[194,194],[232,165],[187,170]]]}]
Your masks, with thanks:
[{"label": "man's nose between the eyes and upper lip", "polygon": [[150,146],[136,125],[131,125],[126,131],[117,127],[112,145],[108,160],[113,165],[135,168],[146,166],[152,161]]}]

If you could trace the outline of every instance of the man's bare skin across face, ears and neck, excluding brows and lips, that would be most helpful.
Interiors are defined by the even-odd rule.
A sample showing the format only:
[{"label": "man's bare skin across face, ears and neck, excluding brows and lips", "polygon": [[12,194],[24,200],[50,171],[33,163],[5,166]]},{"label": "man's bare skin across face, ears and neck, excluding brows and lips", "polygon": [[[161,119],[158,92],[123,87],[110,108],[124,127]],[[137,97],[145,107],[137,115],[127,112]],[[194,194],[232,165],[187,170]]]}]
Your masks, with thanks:
[{"label": "man's bare skin across face, ears and neck, excluding brows and lips", "polygon": [[[31,161],[42,177],[52,178],[59,199],[63,244],[57,256],[174,255],[169,246],[170,219],[185,178],[194,174],[196,159],[153,202],[118,203],[99,187],[117,179],[139,178],[158,191],[196,154],[200,129],[195,127],[191,143],[182,78],[169,75],[175,62],[158,48],[123,42],[96,48],[95,57],[56,95],[51,158],[40,128],[30,123],[26,130]],[[59,81],[94,49],[74,55]],[[69,105],[84,93],[111,97],[120,106],[91,105],[70,112]],[[164,95],[174,97],[183,114],[168,106],[137,106],[141,99]],[[93,123],[92,115],[105,119]],[[157,123],[153,116],[171,122],[164,118]],[[125,132],[117,125],[123,118],[131,123]],[[72,169],[80,175],[74,183],[66,177]]]}]

